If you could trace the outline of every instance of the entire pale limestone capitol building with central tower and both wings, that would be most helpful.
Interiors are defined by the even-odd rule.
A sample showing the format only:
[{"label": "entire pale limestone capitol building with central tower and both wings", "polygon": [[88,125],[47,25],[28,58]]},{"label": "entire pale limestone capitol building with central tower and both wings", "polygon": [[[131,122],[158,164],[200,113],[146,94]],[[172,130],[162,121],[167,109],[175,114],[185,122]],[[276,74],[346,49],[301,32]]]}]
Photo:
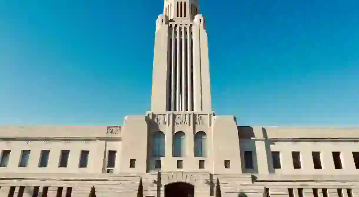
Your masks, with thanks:
[{"label": "entire pale limestone capitol building with central tower and both wings", "polygon": [[0,197],[358,196],[358,128],[212,111],[206,23],[198,0],[164,0],[151,111],[122,126],[0,126]]}]

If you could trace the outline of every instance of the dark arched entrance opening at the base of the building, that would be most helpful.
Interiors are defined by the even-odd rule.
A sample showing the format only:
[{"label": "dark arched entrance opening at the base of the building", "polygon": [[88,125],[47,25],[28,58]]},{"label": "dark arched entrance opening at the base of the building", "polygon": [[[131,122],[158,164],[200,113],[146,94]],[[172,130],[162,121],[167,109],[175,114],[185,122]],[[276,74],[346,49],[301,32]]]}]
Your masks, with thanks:
[{"label": "dark arched entrance opening at the base of the building", "polygon": [[184,182],[170,183],[164,186],[165,197],[194,197],[195,186]]}]

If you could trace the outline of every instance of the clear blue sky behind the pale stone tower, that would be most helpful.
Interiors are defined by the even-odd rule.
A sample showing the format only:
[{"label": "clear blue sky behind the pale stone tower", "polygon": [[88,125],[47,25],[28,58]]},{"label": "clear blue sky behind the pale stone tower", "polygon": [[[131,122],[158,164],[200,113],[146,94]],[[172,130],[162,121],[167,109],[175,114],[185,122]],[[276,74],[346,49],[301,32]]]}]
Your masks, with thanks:
[{"label": "clear blue sky behind the pale stone tower", "polygon": [[[0,1],[0,124],[122,125],[144,115],[162,5]],[[240,125],[358,125],[358,8],[200,0],[213,110]]]}]

